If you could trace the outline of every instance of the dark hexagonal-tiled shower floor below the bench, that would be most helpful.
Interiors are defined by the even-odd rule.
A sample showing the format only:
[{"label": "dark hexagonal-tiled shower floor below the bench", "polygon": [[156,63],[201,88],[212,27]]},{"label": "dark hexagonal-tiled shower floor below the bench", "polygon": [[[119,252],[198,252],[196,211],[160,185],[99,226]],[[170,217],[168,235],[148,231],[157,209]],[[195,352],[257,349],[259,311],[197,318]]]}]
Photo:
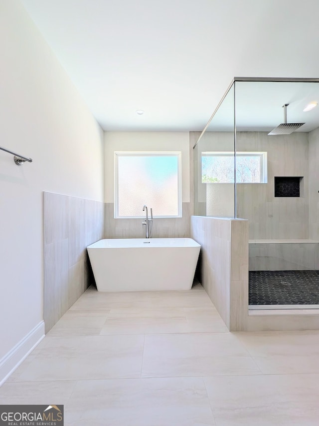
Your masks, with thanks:
[{"label": "dark hexagonal-tiled shower floor below the bench", "polygon": [[319,305],[319,271],[249,271],[249,305]]}]

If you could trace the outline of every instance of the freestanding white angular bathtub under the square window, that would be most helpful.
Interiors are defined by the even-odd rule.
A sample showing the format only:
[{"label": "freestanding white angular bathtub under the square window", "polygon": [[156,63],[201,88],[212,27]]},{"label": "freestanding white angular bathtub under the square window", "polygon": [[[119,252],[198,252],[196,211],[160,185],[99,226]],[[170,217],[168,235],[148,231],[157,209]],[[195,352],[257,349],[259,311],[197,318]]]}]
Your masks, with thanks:
[{"label": "freestanding white angular bathtub under the square window", "polygon": [[189,290],[200,245],[191,238],[108,239],[87,250],[98,291]]}]

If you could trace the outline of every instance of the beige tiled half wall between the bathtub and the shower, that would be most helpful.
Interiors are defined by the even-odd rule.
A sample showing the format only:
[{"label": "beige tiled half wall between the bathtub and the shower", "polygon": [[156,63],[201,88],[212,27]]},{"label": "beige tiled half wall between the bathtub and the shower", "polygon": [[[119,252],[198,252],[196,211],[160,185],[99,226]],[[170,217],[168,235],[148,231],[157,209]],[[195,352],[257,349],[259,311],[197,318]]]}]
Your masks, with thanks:
[{"label": "beige tiled half wall between the bathtub and the shower", "polygon": [[248,221],[192,216],[191,237],[201,245],[199,281],[229,330],[248,309]]}]

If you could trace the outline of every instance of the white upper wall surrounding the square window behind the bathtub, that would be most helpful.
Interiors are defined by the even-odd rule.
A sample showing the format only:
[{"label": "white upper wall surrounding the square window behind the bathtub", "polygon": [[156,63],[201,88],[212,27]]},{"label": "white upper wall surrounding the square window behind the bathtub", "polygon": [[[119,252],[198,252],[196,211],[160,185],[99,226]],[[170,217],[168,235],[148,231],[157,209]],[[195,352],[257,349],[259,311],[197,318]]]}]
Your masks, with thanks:
[{"label": "white upper wall surrounding the square window behind the bathtub", "polygon": [[188,132],[105,132],[105,202],[107,203],[114,203],[115,151],[181,151],[182,202],[189,202]]}]

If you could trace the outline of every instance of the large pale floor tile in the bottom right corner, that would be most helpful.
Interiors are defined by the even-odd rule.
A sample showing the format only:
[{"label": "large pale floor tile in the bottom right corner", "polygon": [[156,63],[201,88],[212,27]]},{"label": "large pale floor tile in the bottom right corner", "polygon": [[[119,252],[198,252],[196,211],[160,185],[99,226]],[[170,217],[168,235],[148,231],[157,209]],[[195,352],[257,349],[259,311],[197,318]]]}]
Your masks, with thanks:
[{"label": "large pale floor tile in the bottom right corner", "polygon": [[204,379],[217,426],[318,426],[319,375]]}]

